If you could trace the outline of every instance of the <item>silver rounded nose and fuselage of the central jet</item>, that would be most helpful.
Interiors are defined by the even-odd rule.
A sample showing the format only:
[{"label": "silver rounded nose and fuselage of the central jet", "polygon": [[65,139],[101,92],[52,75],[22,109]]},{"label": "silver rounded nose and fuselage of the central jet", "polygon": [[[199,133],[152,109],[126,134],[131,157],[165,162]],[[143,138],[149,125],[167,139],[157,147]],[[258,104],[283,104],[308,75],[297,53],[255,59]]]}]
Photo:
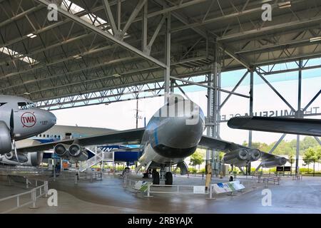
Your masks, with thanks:
[{"label": "silver rounded nose and fuselage of the central jet", "polygon": [[203,135],[203,110],[191,100],[171,98],[160,108],[146,126],[139,162],[150,167],[170,166],[183,162],[195,152]]}]

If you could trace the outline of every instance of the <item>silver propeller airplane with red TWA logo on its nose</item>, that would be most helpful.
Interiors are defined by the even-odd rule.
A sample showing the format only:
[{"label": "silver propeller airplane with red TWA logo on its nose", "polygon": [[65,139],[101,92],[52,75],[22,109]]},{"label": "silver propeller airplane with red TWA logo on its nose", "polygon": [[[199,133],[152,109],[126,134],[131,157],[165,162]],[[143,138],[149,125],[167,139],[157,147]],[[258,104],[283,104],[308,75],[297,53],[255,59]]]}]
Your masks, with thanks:
[{"label": "silver propeller airplane with red TWA logo on its nose", "polygon": [[35,108],[31,100],[0,95],[0,162],[16,164],[29,160],[36,165],[42,154],[17,152],[16,141],[43,133],[55,124],[55,115]]}]

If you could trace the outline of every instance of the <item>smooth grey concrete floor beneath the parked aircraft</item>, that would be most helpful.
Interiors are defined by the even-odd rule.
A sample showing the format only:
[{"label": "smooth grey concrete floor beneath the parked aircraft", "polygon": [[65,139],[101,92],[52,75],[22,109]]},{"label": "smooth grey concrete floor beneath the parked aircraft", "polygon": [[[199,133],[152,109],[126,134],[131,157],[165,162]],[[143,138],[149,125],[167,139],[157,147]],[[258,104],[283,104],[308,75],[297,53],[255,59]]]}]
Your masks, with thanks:
[{"label": "smooth grey concrete floor beneath the parked aircraft", "polygon": [[[225,181],[227,179],[213,179],[213,182]],[[39,209],[26,206],[13,213],[321,213],[321,177],[303,177],[303,180],[282,177],[280,185],[269,184],[272,205],[266,207],[262,205],[263,184],[241,181],[247,187],[245,193],[232,197],[216,195],[216,199],[210,200],[205,199],[208,195],[153,194],[154,197],[146,198],[143,197],[145,194],[123,188],[118,177],[83,181],[78,185],[68,180],[57,180],[50,182],[49,188],[58,190],[58,207],[48,207],[47,199],[41,198],[37,202]],[[174,182],[176,185],[204,185],[205,180],[177,176]]]}]

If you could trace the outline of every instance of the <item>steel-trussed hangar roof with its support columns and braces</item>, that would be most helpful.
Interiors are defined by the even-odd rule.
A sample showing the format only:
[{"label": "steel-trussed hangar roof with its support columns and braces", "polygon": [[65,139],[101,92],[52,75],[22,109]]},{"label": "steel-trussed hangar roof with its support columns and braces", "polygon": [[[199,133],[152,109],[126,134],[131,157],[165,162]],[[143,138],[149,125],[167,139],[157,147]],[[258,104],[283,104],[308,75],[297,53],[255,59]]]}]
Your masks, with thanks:
[{"label": "steel-trussed hangar roof with its support columns and braces", "polygon": [[[262,19],[263,4],[272,9],[271,21]],[[207,134],[220,138],[220,109],[230,96],[248,99],[253,115],[258,76],[293,116],[321,115],[305,113],[321,90],[301,103],[302,71],[321,67],[309,64],[321,57],[320,1],[0,0],[0,11],[0,93],[24,96],[39,108],[152,98],[174,89],[184,94],[185,86],[202,86],[208,89]],[[280,69],[283,63],[296,67]],[[240,69],[247,71],[233,90],[221,88],[222,74]],[[270,75],[287,72],[297,72],[297,107],[269,82]],[[235,92],[246,77],[250,92]],[[223,100],[221,93],[228,96]],[[248,138],[251,146],[251,131]],[[215,156],[208,151],[206,160]]]}]

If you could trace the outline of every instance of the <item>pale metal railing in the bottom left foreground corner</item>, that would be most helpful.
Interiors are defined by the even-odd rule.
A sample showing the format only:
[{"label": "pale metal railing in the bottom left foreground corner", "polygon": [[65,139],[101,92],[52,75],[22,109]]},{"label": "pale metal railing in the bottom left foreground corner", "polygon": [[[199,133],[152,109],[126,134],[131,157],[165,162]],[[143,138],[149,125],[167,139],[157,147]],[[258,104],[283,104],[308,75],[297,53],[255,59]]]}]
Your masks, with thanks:
[{"label": "pale metal railing in the bottom left foreground corner", "polygon": [[[6,206],[9,204],[9,201],[15,201],[14,203],[14,207],[10,208],[10,209],[6,209],[4,212],[0,212],[1,214],[5,214],[8,212],[13,211],[14,209],[18,209],[20,207],[24,207],[26,205],[32,204],[32,206],[30,207],[32,208],[37,208],[36,207],[36,201],[39,197],[45,196],[48,197],[48,181],[42,181],[42,180],[36,180],[36,185],[38,185],[39,182],[43,182],[43,185],[40,185],[38,187],[35,187],[32,190],[29,190],[28,192],[23,192],[17,195],[12,195],[10,197],[5,197],[0,199],[0,205],[1,203],[4,203]],[[26,197],[26,199],[23,199],[24,197]],[[29,200],[30,199],[30,200]],[[23,202],[26,201],[27,202]],[[4,207],[0,207],[4,208]]]}]

